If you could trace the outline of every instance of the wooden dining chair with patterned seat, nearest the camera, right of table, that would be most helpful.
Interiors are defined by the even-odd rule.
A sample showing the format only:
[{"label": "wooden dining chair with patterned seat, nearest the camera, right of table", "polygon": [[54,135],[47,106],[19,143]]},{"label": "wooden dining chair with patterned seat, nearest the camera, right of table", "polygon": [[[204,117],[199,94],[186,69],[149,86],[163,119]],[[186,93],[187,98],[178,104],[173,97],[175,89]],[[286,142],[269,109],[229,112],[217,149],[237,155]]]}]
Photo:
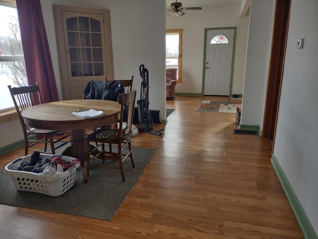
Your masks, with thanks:
[{"label": "wooden dining chair with patterned seat, nearest the camera, right of table", "polygon": [[[85,140],[87,141],[86,168],[88,178],[89,168],[91,166],[97,166],[120,169],[122,180],[123,182],[125,182],[126,178],[123,168],[123,161],[127,157],[130,157],[132,167],[135,167],[131,147],[131,129],[133,125],[135,99],[136,90],[133,90],[128,93],[123,93],[118,96],[118,102],[121,107],[119,126],[117,129],[99,128],[97,131],[85,136]],[[127,126],[125,128],[123,127],[123,122],[127,123]],[[96,142],[97,145],[91,145],[90,142]],[[105,148],[105,144],[108,144],[109,148]],[[118,149],[112,150],[112,144],[116,144]],[[126,151],[124,151],[125,148]],[[92,158],[90,155],[92,155]],[[98,159],[102,160],[102,162],[99,161],[95,164],[91,163],[93,160]],[[118,161],[119,165],[105,164],[105,160]]]}]

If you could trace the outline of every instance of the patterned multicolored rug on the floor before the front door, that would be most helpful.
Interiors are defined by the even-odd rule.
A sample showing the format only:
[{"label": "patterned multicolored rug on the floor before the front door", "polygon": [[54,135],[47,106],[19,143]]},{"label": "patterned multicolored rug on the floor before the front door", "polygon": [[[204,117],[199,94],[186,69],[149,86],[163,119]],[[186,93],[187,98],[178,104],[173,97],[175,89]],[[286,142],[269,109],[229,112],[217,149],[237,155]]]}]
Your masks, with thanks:
[{"label": "patterned multicolored rug on the floor before the front door", "polygon": [[241,105],[241,101],[202,101],[197,111],[237,113],[237,106]]}]

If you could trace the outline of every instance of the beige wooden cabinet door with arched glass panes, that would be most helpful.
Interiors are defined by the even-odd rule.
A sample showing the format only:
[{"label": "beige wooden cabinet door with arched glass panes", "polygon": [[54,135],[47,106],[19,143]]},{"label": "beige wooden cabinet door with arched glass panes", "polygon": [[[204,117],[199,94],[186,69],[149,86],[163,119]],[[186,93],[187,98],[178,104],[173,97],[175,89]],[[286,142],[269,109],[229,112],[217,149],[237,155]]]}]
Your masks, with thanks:
[{"label": "beige wooden cabinet door with arched glass panes", "polygon": [[63,31],[57,37],[58,48],[64,49],[59,51],[63,99],[82,99],[89,81],[104,81],[106,76],[113,79],[109,18],[107,14],[63,9],[61,16]]}]

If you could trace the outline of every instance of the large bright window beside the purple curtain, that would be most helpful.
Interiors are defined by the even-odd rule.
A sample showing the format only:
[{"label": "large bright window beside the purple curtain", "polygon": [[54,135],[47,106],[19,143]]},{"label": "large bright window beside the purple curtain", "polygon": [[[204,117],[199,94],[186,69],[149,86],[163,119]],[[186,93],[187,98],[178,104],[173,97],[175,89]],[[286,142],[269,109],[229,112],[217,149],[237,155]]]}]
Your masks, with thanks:
[{"label": "large bright window beside the purple curtain", "polygon": [[0,113],[12,110],[8,85],[28,84],[16,8],[0,4]]}]

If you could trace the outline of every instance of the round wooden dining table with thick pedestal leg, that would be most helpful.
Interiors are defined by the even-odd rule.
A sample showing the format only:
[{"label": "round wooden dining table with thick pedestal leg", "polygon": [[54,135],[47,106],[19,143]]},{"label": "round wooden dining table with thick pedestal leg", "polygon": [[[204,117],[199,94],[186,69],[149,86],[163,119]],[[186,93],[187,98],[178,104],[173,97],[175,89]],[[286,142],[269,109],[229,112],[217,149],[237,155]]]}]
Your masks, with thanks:
[{"label": "round wooden dining table with thick pedestal leg", "polygon": [[[82,119],[72,112],[94,109],[102,111],[103,116]],[[74,155],[80,160],[83,182],[87,183],[86,155],[84,137],[87,130],[101,125],[111,125],[118,121],[120,105],[106,100],[67,100],[32,106],[21,112],[26,125],[41,129],[70,131]]]}]

